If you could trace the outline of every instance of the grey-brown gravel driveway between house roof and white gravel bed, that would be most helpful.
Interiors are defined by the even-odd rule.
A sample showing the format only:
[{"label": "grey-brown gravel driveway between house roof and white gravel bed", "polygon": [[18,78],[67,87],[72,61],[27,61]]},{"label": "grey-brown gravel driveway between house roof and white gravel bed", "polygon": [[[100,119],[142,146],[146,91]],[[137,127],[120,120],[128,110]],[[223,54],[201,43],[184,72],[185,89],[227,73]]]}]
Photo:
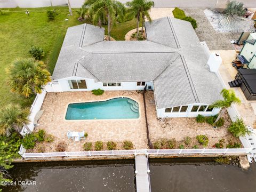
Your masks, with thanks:
[{"label": "grey-brown gravel driveway between house roof and white gravel bed", "polygon": [[210,50],[234,50],[231,39],[238,39],[241,33],[219,33],[215,31],[204,14],[206,8],[185,8],[187,16],[197,21],[196,34],[199,40],[205,41]]}]

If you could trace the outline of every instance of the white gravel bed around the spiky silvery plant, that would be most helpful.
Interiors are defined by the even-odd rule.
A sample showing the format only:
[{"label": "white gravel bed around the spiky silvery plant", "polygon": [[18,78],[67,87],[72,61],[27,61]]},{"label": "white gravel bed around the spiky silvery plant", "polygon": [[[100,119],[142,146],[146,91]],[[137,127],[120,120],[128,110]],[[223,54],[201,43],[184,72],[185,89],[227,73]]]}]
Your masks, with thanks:
[{"label": "white gravel bed around the spiky silvery plant", "polygon": [[227,23],[227,18],[223,13],[219,13],[218,11],[211,9],[205,9],[204,13],[209,22],[211,23],[212,27],[218,32],[242,33],[243,31],[255,31],[255,28],[253,27],[254,21],[252,20],[253,14],[248,18],[234,16],[234,18],[232,18],[230,22]]}]

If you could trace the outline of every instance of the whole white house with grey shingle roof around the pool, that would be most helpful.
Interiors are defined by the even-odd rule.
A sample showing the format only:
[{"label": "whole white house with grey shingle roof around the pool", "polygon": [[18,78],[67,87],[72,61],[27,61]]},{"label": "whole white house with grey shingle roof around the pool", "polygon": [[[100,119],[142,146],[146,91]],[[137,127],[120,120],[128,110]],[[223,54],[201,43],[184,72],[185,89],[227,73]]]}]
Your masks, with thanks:
[{"label": "whole white house with grey shingle roof around the pool", "polygon": [[154,90],[158,117],[215,115],[222,99],[216,66],[187,21],[146,22],[147,41],[103,41],[105,29],[84,24],[67,30],[51,91]]}]

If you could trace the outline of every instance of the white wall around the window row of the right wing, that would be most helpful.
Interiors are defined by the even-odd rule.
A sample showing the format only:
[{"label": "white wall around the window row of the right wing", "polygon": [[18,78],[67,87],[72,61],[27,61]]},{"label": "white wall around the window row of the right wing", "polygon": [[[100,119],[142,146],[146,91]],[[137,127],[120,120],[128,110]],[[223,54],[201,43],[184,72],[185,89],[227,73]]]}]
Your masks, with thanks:
[{"label": "white wall around the window row of the right wing", "polygon": [[[203,115],[203,116],[213,116],[217,115],[220,111],[219,108],[214,108],[211,112],[204,112],[204,111],[198,111],[198,112],[191,112],[192,107],[196,106],[206,106],[207,104],[203,103],[193,103],[188,105],[187,112],[185,113],[165,113],[165,108],[163,109],[157,109],[157,117],[158,118],[164,118],[164,117],[196,117],[197,115]],[[175,107],[175,106],[174,106]]]}]

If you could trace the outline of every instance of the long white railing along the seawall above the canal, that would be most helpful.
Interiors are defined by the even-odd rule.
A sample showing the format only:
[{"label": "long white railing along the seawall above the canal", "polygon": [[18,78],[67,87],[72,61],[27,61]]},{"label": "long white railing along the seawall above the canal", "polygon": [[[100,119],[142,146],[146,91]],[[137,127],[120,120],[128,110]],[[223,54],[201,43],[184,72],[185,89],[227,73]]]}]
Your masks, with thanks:
[{"label": "long white railing along the seawall above the canal", "polygon": [[81,157],[81,156],[117,156],[117,155],[223,155],[223,154],[236,154],[244,155],[249,154],[252,148],[237,148],[237,149],[139,149],[139,150],[106,150],[106,151],[72,151],[72,152],[52,152],[52,153],[20,153],[23,158],[40,158],[40,157]]}]

